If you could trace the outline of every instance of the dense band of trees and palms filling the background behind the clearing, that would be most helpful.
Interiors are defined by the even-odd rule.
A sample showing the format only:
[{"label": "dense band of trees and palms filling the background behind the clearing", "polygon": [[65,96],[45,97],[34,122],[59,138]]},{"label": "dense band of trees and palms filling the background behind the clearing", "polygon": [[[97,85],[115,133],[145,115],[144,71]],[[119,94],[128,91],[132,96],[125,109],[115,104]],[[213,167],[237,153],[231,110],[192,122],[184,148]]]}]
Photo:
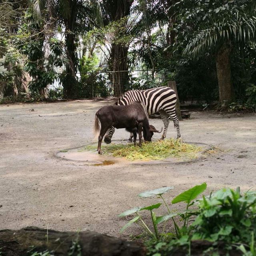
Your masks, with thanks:
[{"label": "dense band of trees and palms filling the background behind the clearing", "polygon": [[175,80],[182,101],[255,110],[255,17],[254,0],[4,0],[0,100],[118,96]]}]

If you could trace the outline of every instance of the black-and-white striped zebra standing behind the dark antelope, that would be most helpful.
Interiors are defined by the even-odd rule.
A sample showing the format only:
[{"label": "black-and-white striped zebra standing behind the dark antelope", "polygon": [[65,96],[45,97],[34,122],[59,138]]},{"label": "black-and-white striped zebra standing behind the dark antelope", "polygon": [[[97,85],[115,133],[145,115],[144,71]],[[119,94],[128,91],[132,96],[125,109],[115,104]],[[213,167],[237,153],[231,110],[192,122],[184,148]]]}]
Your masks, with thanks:
[{"label": "black-and-white striped zebra standing behind the dark antelope", "polygon": [[[180,138],[180,125],[176,116],[175,104],[176,94],[174,90],[169,87],[162,86],[158,88],[152,88],[148,90],[130,90],[124,92],[115,102],[114,105],[129,105],[134,101],[143,102],[146,106],[148,114],[160,113],[162,121],[164,122],[164,132],[162,134],[162,140],[166,138],[166,132],[168,129],[170,119],[174,122],[174,127],[177,130],[177,138]],[[111,143],[111,138],[114,134],[115,128],[112,126],[106,132],[104,142]],[[128,141],[132,142],[133,134],[130,133]]]}]

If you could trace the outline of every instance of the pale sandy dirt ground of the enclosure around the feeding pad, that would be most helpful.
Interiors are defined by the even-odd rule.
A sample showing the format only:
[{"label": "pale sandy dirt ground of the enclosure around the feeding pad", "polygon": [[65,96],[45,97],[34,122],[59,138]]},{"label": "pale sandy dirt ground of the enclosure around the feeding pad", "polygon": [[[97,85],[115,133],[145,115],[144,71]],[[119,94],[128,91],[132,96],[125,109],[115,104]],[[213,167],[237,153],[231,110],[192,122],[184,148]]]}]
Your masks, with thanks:
[{"label": "pale sandy dirt ground of the enclosure around the feeding pad", "polygon": [[[56,158],[58,150],[92,140],[94,115],[105,104],[112,102],[0,105],[0,229],[48,225],[56,230],[120,236],[126,220],[117,214],[158,202],[157,198],[138,198],[144,190],[174,186],[165,196],[172,199],[202,182],[208,184],[205,194],[223,187],[256,189],[255,114],[193,112],[190,120],[180,122],[185,141],[225,150],[197,162],[88,166]],[[162,126],[158,119],[150,123],[156,128]],[[172,123],[167,137],[176,137]],[[128,138],[128,133],[117,130],[114,138]],[[171,206],[179,207],[182,204]]]}]

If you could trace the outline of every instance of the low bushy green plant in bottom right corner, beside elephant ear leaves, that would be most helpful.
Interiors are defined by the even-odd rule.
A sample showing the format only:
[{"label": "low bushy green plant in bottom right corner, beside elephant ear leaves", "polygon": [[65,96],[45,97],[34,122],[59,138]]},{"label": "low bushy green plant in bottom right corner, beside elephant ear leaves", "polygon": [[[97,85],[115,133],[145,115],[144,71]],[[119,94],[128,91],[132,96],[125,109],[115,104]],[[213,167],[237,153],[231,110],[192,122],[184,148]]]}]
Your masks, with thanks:
[{"label": "low bushy green plant in bottom right corner, beside elephant ear leaves", "polygon": [[[222,189],[199,201],[200,214],[192,224],[194,239],[250,244],[256,232],[256,193]],[[254,233],[255,236],[255,233]]]}]

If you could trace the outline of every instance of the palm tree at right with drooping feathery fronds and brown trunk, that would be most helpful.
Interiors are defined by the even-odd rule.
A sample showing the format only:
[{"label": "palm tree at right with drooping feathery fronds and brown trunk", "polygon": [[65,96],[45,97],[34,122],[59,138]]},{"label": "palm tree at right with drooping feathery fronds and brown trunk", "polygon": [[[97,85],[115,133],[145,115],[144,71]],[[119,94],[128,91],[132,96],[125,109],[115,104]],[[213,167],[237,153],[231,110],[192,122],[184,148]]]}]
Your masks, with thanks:
[{"label": "palm tree at right with drooping feathery fronds and brown trunk", "polygon": [[[199,2],[200,6],[192,6],[190,12],[186,9],[187,17],[190,15],[194,20],[201,17],[201,20],[183,54],[195,57],[205,52],[215,52],[219,100],[224,106],[234,100],[230,71],[232,47],[236,42],[256,45],[256,2],[254,0],[226,2],[200,0]],[[190,36],[191,34],[188,37]]]}]

